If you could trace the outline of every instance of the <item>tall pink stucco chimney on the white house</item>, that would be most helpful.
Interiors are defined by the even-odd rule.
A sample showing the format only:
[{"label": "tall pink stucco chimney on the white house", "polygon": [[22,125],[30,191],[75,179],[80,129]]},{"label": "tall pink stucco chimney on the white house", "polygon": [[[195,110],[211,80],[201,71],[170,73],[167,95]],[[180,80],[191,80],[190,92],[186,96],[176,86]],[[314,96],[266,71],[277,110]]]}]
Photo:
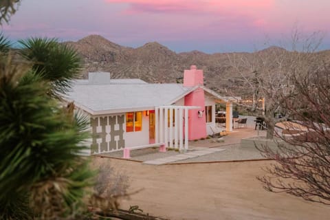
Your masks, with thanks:
[{"label": "tall pink stucco chimney on the white house", "polygon": [[[192,65],[190,69],[184,70],[184,87],[194,87],[203,85],[203,70],[197,69],[195,65]],[[188,137],[189,140],[200,139],[206,137],[206,118],[205,112],[199,117],[198,111],[204,111],[205,109],[205,97],[204,90],[197,88],[184,98],[184,105],[186,106],[199,106],[200,109],[194,109],[189,111],[188,121]]]}]

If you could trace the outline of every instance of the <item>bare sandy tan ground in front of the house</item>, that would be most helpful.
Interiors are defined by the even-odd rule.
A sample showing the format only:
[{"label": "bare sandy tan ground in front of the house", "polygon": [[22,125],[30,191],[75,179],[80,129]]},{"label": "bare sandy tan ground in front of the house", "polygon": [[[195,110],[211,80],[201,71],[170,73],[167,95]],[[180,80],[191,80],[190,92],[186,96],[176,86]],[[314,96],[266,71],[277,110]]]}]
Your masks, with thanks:
[{"label": "bare sandy tan ground in front of the house", "polygon": [[110,163],[131,179],[121,208],[137,205],[167,219],[329,219],[330,208],[284,193],[263,190],[256,175],[270,161],[211,164],[145,165],[121,159]]}]

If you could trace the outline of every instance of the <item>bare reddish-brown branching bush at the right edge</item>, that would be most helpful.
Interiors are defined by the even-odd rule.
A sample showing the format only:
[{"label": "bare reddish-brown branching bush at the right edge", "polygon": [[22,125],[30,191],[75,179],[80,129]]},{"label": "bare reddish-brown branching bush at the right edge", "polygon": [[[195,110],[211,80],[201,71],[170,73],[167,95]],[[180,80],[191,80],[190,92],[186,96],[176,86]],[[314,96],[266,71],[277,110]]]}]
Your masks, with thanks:
[{"label": "bare reddish-brown branching bush at the right edge", "polygon": [[287,123],[286,130],[301,132],[279,135],[285,144],[276,150],[260,149],[276,163],[265,168],[268,175],[259,180],[271,192],[330,205],[330,67],[292,80],[296,96],[285,101],[285,108],[294,123]]}]

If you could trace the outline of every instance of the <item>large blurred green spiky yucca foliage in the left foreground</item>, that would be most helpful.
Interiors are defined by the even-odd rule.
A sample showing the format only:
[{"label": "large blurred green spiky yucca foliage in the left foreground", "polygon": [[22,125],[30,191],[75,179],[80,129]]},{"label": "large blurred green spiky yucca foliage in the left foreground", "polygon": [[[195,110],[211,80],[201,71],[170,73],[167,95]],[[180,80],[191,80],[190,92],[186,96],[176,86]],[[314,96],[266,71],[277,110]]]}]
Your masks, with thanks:
[{"label": "large blurred green spiky yucca foliage in the left foreground", "polygon": [[45,94],[49,84],[41,79],[10,58],[0,62],[1,219],[27,219],[31,210],[41,219],[70,217],[91,184],[87,161],[78,155],[87,120],[72,120]]}]

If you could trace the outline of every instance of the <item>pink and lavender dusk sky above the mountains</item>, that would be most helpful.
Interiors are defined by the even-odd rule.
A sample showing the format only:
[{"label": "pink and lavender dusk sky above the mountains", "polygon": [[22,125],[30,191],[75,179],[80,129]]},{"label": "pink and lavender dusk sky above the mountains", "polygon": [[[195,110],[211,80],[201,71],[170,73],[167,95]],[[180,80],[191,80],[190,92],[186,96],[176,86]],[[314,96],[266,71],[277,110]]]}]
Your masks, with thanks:
[{"label": "pink and lavender dusk sky above the mountains", "polygon": [[329,8],[329,0],[23,0],[2,29],[13,40],[100,34],[125,46],[157,41],[175,52],[213,53],[287,42],[298,26],[323,32],[321,49],[330,49]]}]

